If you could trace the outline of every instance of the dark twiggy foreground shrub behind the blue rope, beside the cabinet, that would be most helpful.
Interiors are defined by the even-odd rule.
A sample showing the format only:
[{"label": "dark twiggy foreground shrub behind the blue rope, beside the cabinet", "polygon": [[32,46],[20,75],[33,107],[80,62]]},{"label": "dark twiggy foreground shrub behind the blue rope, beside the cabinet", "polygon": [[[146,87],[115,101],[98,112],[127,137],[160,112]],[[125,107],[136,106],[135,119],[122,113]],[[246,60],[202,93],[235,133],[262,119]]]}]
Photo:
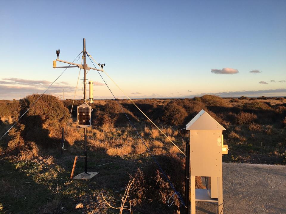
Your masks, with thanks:
[{"label": "dark twiggy foreground shrub behind the blue rope, beside the cabinet", "polygon": [[[174,185],[176,191],[184,195],[185,179],[184,179],[184,158],[178,158],[176,155],[157,156],[157,160],[161,163],[163,171],[168,179]],[[137,172],[130,176],[135,179],[130,188],[130,201],[132,205],[136,204],[165,204],[174,193],[170,183],[165,176],[158,170],[155,164],[149,165],[147,168],[138,169]],[[205,188],[201,178],[196,177],[196,188]],[[178,196],[174,196],[173,204],[179,206]]]}]

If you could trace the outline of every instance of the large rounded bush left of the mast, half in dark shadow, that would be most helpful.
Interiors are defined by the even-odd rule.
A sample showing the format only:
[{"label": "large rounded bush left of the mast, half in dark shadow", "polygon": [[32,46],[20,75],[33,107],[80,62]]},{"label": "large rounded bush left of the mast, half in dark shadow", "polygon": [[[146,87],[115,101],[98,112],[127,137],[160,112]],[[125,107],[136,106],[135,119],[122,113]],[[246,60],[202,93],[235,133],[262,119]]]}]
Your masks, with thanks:
[{"label": "large rounded bush left of the mast, half in dark shadow", "polygon": [[[69,112],[63,103],[52,95],[29,95],[20,100],[20,114],[29,111],[20,119],[19,125],[10,130],[12,139],[8,143],[11,150],[21,150],[24,142],[33,141],[37,144],[50,146],[58,144],[61,128],[69,120]],[[35,103],[34,106],[32,104]],[[28,145],[29,146],[29,145]]]}]

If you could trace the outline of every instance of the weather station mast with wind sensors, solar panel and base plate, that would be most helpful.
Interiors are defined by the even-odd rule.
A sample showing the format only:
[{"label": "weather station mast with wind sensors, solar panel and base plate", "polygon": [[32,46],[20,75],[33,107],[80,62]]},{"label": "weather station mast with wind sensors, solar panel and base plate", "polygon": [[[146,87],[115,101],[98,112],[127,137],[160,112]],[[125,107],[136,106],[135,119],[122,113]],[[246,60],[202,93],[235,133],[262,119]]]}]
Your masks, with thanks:
[{"label": "weather station mast with wind sensors, solar panel and base plate", "polygon": [[[83,104],[77,106],[77,125],[84,129],[84,172],[78,174],[77,176],[73,177],[74,179],[91,179],[98,172],[87,172],[87,151],[86,151],[86,143],[87,143],[87,127],[91,126],[91,111],[92,108],[89,105],[93,103],[93,81],[86,82],[86,71],[88,70],[97,70],[103,72],[103,66],[105,64],[98,64],[101,66],[102,69],[97,69],[94,67],[88,67],[86,64],[86,39],[83,39],[83,64],[76,64],[73,62],[67,62],[64,60],[59,59],[60,49],[56,51],[57,59],[53,61],[53,68],[71,68],[77,67],[83,69]],[[90,55],[91,56],[91,55]],[[69,64],[69,66],[61,66],[57,67],[57,62],[63,62]],[[72,65],[72,66],[71,66]],[[89,84],[89,99],[86,99],[86,84]],[[88,104],[89,103],[89,104]]]}]

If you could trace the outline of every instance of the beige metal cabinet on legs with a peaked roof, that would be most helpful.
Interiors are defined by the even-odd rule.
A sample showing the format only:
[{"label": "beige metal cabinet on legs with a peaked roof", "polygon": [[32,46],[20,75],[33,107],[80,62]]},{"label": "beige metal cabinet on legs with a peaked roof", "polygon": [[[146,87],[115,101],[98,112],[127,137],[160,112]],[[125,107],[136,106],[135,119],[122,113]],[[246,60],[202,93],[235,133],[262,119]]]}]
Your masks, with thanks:
[{"label": "beige metal cabinet on legs with a peaked roof", "polygon": [[[196,201],[205,201],[218,204],[218,213],[223,214],[222,154],[228,148],[222,131],[226,129],[201,110],[186,130],[190,131],[191,213],[195,214]],[[208,189],[195,189],[195,176],[207,177]]]}]

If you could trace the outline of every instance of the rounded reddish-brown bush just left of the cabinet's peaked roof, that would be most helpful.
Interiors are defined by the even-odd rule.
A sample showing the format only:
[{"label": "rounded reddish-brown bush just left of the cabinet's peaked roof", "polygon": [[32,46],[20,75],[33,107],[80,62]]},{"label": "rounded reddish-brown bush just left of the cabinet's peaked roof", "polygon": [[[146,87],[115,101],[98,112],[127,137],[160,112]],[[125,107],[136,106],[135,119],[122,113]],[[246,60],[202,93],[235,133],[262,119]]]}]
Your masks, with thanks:
[{"label": "rounded reddish-brown bush just left of the cabinet's peaked roof", "polygon": [[165,106],[164,116],[162,119],[170,125],[182,125],[185,118],[188,116],[186,110],[177,103],[168,103]]}]

